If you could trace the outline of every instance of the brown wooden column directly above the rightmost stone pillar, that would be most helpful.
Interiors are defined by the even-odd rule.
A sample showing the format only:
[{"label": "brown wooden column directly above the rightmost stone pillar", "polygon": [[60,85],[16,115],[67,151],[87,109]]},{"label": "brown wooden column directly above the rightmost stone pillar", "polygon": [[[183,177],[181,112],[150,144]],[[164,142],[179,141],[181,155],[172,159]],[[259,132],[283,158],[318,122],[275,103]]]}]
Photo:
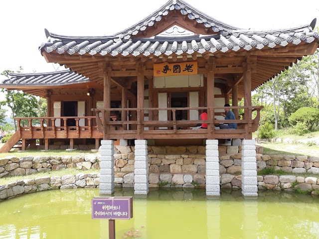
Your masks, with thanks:
[{"label": "brown wooden column directly above the rightmost stone pillar", "polygon": [[[244,68],[244,106],[251,107],[251,66],[247,62],[243,62]],[[252,139],[251,131],[251,114],[252,110],[245,109],[244,119],[249,119],[249,123],[245,125],[246,137],[245,139]]]}]

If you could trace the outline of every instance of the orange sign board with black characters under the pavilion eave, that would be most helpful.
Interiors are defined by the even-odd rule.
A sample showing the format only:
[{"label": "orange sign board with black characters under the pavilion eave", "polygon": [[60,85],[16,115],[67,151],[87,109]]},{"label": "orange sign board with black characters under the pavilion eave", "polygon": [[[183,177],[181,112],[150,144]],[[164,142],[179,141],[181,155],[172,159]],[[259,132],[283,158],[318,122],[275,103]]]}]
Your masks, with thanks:
[{"label": "orange sign board with black characters under the pavilion eave", "polygon": [[196,75],[197,61],[154,64],[154,76]]}]

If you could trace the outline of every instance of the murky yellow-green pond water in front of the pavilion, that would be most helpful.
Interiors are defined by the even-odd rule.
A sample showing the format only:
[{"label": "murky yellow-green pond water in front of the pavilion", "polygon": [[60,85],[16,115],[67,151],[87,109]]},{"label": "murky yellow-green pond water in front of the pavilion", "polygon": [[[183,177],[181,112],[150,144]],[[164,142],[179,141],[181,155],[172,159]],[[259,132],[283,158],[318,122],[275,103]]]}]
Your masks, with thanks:
[{"label": "murky yellow-green pond water in front of the pavilion", "polygon": [[[108,220],[91,219],[98,189],[51,190],[0,202],[0,239],[108,239]],[[117,190],[114,196],[133,196]],[[133,199],[134,217],[116,221],[116,238],[140,239],[318,239],[319,198],[241,191],[207,199],[205,191],[151,190]]]}]

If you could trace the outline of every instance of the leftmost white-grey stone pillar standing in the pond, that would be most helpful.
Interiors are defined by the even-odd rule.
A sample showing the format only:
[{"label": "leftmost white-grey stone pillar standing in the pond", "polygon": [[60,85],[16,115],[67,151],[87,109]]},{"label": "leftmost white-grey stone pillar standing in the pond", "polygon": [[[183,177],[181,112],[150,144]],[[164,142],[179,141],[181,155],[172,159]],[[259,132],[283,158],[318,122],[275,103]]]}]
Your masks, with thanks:
[{"label": "leftmost white-grey stone pillar standing in the pond", "polygon": [[101,140],[100,194],[114,192],[114,141]]}]

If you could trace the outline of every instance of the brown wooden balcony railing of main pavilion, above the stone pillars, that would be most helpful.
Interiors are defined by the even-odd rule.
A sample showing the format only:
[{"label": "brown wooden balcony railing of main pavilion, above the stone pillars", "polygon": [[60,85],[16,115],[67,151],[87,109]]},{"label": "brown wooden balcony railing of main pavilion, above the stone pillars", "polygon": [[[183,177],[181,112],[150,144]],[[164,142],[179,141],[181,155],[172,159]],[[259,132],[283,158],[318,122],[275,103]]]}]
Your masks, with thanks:
[{"label": "brown wooden balcony railing of main pavilion, above the stone pillars", "polygon": [[[110,119],[111,109],[92,109],[96,114],[96,122],[100,132],[103,132],[104,138],[246,138],[252,137],[252,132],[257,130],[260,110],[263,107],[186,107],[186,108],[117,108],[117,111],[124,111],[131,116],[136,113],[134,120],[113,121]],[[225,120],[215,119],[221,113],[216,110],[244,109],[243,119]],[[177,120],[176,111],[207,111],[207,120]],[[167,117],[172,116],[170,120],[144,120],[145,113],[158,116],[159,111],[167,111]],[[252,112],[257,111],[257,116],[252,119]],[[189,115],[189,114],[188,114]],[[199,114],[198,114],[199,116]],[[120,117],[120,116],[119,116]],[[170,118],[170,117],[169,117]],[[207,129],[191,129],[196,124],[207,123]],[[237,129],[216,129],[215,124],[221,123],[237,123]]]}]

